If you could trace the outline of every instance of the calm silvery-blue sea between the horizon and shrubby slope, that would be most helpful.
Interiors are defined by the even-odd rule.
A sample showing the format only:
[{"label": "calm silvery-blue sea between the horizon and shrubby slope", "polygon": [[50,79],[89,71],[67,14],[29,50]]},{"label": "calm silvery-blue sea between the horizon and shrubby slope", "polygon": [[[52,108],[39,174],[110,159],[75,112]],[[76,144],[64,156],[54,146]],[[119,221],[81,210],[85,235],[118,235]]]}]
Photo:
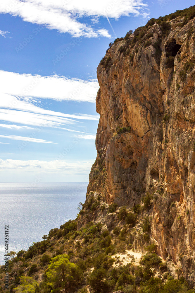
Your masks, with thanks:
[{"label": "calm silvery-blue sea between the horizon and shrubby slope", "polygon": [[[42,241],[43,235],[75,219],[88,183],[0,183],[0,264],[4,264],[5,225],[9,251]],[[7,230],[6,230],[7,231]]]}]

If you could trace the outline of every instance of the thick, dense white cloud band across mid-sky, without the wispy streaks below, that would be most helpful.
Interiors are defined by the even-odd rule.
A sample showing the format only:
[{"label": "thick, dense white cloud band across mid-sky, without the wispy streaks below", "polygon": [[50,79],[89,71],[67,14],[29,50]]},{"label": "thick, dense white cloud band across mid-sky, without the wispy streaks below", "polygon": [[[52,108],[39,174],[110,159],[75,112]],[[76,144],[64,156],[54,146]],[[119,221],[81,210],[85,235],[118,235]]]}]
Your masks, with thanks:
[{"label": "thick, dense white cloud band across mid-sky, without the wispy streaks below", "polygon": [[99,89],[97,80],[68,79],[57,74],[41,76],[0,70],[0,81],[1,93],[31,99],[35,97],[94,103]]}]

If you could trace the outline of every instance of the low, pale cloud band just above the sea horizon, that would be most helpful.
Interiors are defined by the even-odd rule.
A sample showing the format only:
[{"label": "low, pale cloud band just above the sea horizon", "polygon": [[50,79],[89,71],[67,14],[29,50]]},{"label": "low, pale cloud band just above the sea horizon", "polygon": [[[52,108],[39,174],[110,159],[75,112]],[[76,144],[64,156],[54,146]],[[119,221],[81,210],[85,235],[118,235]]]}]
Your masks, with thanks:
[{"label": "low, pale cloud band just above the sea horizon", "polygon": [[39,161],[39,160],[2,160],[0,159],[0,169],[22,169],[55,172],[64,170],[68,172],[89,172],[94,161]]}]

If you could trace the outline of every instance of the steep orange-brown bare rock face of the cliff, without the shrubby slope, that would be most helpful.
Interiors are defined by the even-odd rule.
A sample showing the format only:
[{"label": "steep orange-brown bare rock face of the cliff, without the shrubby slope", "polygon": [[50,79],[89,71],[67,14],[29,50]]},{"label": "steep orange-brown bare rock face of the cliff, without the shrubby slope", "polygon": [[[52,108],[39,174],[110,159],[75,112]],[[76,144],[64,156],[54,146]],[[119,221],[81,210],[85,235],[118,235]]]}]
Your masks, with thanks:
[{"label": "steep orange-brown bare rock face of the cliff, without the shrubby slope", "polygon": [[[97,68],[98,155],[87,197],[93,192],[108,205],[132,209],[146,193],[153,195],[145,212],[151,216],[150,241],[192,286],[195,18],[153,22],[115,42]],[[105,222],[108,214],[92,217]],[[80,216],[78,227],[89,219]]]}]

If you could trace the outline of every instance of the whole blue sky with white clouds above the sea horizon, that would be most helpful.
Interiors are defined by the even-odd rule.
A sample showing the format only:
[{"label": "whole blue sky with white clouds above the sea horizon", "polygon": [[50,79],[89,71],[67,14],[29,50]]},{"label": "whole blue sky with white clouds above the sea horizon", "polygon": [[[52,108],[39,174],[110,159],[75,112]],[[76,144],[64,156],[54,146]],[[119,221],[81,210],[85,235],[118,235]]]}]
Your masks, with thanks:
[{"label": "whole blue sky with white clouds above the sea horizon", "polygon": [[[0,182],[87,182],[108,44],[187,0],[0,0]],[[109,23],[110,22],[110,23]]]}]

